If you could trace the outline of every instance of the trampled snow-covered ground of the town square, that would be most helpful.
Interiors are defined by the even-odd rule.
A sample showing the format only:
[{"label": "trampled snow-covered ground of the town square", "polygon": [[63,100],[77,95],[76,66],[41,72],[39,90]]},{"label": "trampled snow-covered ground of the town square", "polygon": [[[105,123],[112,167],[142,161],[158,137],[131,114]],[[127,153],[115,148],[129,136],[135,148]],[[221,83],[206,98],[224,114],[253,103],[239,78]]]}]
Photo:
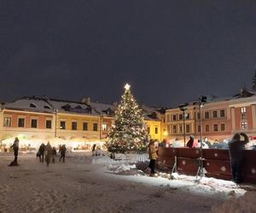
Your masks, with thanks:
[{"label": "trampled snow-covered ground of the town square", "polygon": [[117,158],[67,153],[65,164],[48,168],[34,154],[20,154],[15,167],[13,156],[0,155],[0,212],[256,212],[254,186],[149,177],[131,156]]}]

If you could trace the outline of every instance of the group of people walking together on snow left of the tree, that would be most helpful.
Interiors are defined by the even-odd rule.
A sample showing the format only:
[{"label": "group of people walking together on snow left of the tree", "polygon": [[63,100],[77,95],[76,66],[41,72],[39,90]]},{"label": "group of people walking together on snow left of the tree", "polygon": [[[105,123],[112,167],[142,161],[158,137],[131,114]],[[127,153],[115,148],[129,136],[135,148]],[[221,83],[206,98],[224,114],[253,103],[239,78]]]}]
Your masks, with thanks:
[{"label": "group of people walking together on snow left of the tree", "polygon": [[[59,153],[61,153],[60,162],[62,159],[62,162],[65,163],[65,156],[66,156],[67,148],[64,145],[59,147]],[[57,151],[55,147],[51,147],[49,142],[45,146],[44,143],[42,143],[38,149],[37,157],[39,157],[40,162],[44,163],[44,156],[45,156],[45,162],[46,165],[49,166],[49,163],[55,164],[55,158],[57,156]]]}]

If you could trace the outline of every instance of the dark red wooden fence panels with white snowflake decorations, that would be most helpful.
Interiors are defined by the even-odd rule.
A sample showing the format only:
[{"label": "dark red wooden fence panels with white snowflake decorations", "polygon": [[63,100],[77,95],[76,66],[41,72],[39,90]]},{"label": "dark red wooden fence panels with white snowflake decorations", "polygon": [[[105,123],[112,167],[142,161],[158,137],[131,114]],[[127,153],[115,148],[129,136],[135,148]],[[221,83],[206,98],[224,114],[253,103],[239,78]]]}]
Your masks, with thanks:
[{"label": "dark red wooden fence panels with white snowflake decorations", "polygon": [[[245,150],[246,161],[242,169],[245,182],[256,183],[256,150]],[[200,149],[159,147],[157,166],[160,170],[171,172],[175,162],[177,173],[195,176],[200,165]],[[203,165],[206,176],[231,180],[230,155],[228,150],[203,149]]]}]

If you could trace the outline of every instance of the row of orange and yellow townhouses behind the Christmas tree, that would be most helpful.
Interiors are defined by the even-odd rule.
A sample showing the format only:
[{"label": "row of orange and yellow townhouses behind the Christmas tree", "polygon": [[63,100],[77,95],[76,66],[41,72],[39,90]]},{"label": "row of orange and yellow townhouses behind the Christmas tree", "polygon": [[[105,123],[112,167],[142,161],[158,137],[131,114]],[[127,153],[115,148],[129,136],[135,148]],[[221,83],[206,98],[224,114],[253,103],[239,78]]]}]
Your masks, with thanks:
[{"label": "row of orange and yellow townhouses behind the Christmas tree", "polygon": [[[143,106],[144,123],[152,139],[162,140],[165,114]],[[15,136],[29,139],[104,141],[114,120],[116,105],[85,98],[61,101],[48,97],[23,97],[6,103],[0,112],[0,141]]]}]

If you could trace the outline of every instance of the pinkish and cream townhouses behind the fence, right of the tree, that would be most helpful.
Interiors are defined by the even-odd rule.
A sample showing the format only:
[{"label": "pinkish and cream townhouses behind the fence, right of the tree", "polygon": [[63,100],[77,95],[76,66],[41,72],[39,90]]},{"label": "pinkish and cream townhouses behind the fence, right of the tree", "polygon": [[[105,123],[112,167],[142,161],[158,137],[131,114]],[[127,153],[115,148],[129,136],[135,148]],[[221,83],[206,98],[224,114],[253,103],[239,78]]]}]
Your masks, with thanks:
[{"label": "pinkish and cream townhouses behind the fence, right of the tree", "polygon": [[166,110],[168,135],[172,139],[183,140],[184,135],[199,138],[201,130],[212,141],[230,139],[240,131],[256,135],[256,95],[247,89],[231,98],[208,100],[201,113],[198,101],[189,102],[184,115],[180,107]]}]

